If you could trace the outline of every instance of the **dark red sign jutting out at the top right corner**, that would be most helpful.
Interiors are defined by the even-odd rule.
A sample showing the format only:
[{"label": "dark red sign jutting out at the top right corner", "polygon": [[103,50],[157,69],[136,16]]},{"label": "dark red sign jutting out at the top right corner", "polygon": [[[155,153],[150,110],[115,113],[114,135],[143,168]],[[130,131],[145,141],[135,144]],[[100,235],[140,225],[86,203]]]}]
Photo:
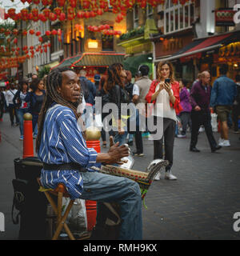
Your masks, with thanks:
[{"label": "dark red sign jutting out at the top right corner", "polygon": [[235,10],[215,10],[216,26],[235,26]]}]

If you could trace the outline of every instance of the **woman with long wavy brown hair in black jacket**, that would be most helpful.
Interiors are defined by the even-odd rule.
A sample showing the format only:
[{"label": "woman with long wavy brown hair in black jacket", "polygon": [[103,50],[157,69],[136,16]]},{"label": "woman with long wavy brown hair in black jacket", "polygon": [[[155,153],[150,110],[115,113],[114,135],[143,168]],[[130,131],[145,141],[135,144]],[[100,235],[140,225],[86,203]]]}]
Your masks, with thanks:
[{"label": "woman with long wavy brown hair in black jacket", "polygon": [[116,108],[112,110],[112,122],[115,131],[114,142],[120,145],[126,142],[127,136],[127,115],[122,115],[121,104],[129,104],[130,96],[124,89],[126,71],[121,63],[114,63],[107,70],[106,82],[103,86],[106,94],[109,95],[110,103],[114,103]]}]

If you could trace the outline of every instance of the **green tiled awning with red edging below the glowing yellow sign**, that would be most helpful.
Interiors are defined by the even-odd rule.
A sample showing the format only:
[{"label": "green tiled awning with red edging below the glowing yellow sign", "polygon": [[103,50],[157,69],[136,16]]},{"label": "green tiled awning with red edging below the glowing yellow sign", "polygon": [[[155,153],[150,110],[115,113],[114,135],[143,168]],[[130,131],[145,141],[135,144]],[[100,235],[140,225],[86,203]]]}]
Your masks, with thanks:
[{"label": "green tiled awning with red edging below the glowing yellow sign", "polygon": [[125,54],[112,53],[84,53],[71,66],[110,66],[122,63]]}]

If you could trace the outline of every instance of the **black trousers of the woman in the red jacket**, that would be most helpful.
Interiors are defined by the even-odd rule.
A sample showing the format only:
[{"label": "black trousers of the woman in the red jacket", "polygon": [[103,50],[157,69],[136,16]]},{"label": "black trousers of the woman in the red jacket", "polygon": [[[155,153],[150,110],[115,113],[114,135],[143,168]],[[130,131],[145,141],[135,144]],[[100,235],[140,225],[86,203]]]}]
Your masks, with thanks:
[{"label": "black trousers of the woman in the red jacket", "polygon": [[168,160],[169,165],[166,170],[170,170],[174,162],[174,134],[176,122],[170,118],[163,118],[163,137],[159,140],[154,140],[154,159],[163,158],[162,140],[164,139],[165,160]]}]

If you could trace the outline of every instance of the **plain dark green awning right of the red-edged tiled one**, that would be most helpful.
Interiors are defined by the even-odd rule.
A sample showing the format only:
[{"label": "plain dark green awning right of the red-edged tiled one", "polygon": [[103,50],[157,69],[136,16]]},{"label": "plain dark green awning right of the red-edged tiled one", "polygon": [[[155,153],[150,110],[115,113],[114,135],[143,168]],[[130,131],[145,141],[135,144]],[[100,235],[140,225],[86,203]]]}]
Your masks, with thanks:
[{"label": "plain dark green awning right of the red-edged tiled one", "polygon": [[125,70],[130,70],[132,76],[137,73],[138,66],[140,65],[148,65],[150,67],[150,74],[152,73],[152,63],[153,63],[153,54],[141,54],[137,56],[132,56],[126,58],[123,62],[123,67]]}]

